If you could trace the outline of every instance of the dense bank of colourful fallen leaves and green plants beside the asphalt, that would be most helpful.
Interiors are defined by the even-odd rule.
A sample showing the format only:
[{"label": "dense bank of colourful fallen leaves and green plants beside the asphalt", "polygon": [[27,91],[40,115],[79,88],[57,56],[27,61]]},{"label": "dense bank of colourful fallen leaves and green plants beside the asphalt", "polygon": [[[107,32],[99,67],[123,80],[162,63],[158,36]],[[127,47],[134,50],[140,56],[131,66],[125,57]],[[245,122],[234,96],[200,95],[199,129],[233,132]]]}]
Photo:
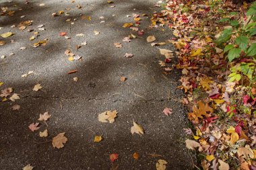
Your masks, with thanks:
[{"label": "dense bank of colourful fallen leaves and green plants beside the asphalt", "polygon": [[[256,169],[256,2],[159,1],[175,38],[197,169]],[[164,63],[165,62],[165,63]],[[167,67],[168,60],[161,66]],[[196,164],[196,163],[195,163]]]}]

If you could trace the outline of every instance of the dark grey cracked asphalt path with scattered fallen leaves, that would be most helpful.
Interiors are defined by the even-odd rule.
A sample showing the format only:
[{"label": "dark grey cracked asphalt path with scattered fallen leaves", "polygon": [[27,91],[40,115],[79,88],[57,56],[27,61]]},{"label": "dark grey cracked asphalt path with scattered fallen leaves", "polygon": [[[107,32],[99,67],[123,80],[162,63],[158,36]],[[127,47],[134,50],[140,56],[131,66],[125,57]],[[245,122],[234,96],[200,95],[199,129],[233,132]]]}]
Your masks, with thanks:
[{"label": "dark grey cracked asphalt path with scattered fallen leaves", "polygon": [[[145,30],[145,34],[131,42],[122,41],[132,32],[122,26],[133,22],[133,13],[150,15],[161,8],[154,7],[156,0],[106,2],[44,0],[26,4],[24,1],[1,1],[0,6],[15,10],[15,15],[0,17],[3,27],[0,34],[16,34],[4,38],[7,44],[0,46],[0,56],[6,56],[0,59],[0,81],[5,83],[0,89],[13,87],[21,97],[15,102],[0,103],[1,169],[22,169],[28,164],[34,169],[110,169],[111,153],[119,154],[115,161],[119,169],[156,169],[158,159],[168,162],[167,169],[191,169],[191,157],[183,142],[183,128],[188,125],[179,102],[182,97],[182,91],[177,89],[179,72],[163,76],[158,65],[163,57],[158,48],[146,42],[150,35],[156,36],[157,42],[164,42],[171,38],[170,31],[149,28],[150,19],[141,17],[139,28]],[[45,5],[40,6],[40,3]],[[82,9],[77,9],[76,5],[81,5]],[[51,15],[61,10],[70,15]],[[92,19],[81,19],[80,14]],[[26,17],[21,18],[22,15]],[[66,22],[69,18],[77,20],[71,25]],[[39,31],[40,36],[34,41],[29,40],[33,32],[27,32],[28,28],[23,31],[11,28],[26,20],[34,20],[28,26],[30,29],[38,31],[40,24],[46,29]],[[100,34],[94,35],[94,30]],[[67,32],[71,39],[59,36],[60,32]],[[45,38],[49,38],[46,46],[31,46]],[[75,46],[84,41],[88,44],[76,50]],[[123,47],[116,48],[115,42],[121,42]],[[20,50],[22,46],[26,49]],[[162,48],[171,49],[172,46]],[[64,54],[67,49],[82,56],[82,60],[69,61]],[[9,56],[11,52],[13,56]],[[125,58],[126,52],[134,56]],[[68,75],[67,72],[73,69],[77,69],[77,73]],[[34,74],[22,78],[28,71]],[[127,80],[121,82],[121,75]],[[73,77],[79,80],[75,82]],[[32,91],[37,83],[42,89]],[[20,110],[13,111],[14,104],[20,105]],[[172,115],[162,113],[166,107],[172,108]],[[98,121],[98,114],[106,110],[119,113],[113,124]],[[38,122],[39,114],[46,111],[52,115],[47,121],[48,127],[42,123],[39,130],[32,132],[28,126]],[[131,134],[133,120],[141,124],[145,134]],[[49,136],[40,138],[38,133],[45,128]],[[51,142],[44,142],[61,132],[68,138],[63,148],[53,148]],[[104,140],[94,142],[96,135]],[[139,160],[133,159],[135,152],[139,153]]]}]

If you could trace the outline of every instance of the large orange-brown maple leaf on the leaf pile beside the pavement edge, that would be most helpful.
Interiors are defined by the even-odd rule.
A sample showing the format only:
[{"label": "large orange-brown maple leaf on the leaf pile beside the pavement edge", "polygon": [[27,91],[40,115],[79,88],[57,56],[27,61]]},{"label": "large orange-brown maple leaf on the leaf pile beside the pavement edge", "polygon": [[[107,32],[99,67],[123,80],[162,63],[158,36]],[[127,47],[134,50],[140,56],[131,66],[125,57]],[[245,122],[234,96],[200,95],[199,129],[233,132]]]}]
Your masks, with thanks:
[{"label": "large orange-brown maple leaf on the leaf pile beside the pavement edge", "polygon": [[[197,108],[198,105],[198,108]],[[204,104],[202,101],[198,101],[197,105],[193,106],[193,113],[197,118],[203,118],[203,116],[210,117],[210,114],[207,114],[206,112],[214,112],[214,110],[206,103]]]}]

